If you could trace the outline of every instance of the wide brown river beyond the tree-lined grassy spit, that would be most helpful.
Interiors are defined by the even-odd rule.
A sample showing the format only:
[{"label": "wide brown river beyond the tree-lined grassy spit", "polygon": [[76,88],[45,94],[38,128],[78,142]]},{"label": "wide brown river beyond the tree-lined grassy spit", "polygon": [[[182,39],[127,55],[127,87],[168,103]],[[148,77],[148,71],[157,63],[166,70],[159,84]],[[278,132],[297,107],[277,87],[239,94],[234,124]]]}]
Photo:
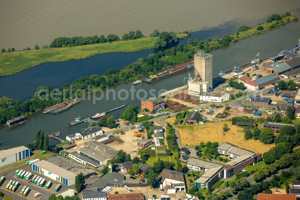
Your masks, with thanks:
[{"label": "wide brown river beyond the tree-lined grassy spit", "polygon": [[40,47],[57,37],[108,35],[120,37],[140,29],[180,32],[209,30],[235,20],[254,26],[273,13],[299,13],[295,0],[14,0],[1,1],[0,47],[22,50]]}]

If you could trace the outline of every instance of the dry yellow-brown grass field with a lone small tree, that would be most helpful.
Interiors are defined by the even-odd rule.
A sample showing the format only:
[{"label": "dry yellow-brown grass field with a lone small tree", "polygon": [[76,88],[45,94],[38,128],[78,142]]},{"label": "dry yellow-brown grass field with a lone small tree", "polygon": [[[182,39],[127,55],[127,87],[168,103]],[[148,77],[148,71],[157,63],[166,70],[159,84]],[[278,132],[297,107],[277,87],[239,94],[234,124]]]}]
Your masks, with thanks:
[{"label": "dry yellow-brown grass field with a lone small tree", "polygon": [[207,141],[217,141],[219,144],[222,142],[230,142],[260,153],[264,153],[275,146],[275,144],[263,144],[259,142],[259,140],[245,140],[242,128],[231,125],[231,122],[227,122],[230,130],[223,135],[224,123],[225,122],[206,123],[205,125],[192,125],[190,127],[180,125],[176,126],[176,129],[179,130],[181,143],[183,145],[199,145],[200,142],[205,143]]}]

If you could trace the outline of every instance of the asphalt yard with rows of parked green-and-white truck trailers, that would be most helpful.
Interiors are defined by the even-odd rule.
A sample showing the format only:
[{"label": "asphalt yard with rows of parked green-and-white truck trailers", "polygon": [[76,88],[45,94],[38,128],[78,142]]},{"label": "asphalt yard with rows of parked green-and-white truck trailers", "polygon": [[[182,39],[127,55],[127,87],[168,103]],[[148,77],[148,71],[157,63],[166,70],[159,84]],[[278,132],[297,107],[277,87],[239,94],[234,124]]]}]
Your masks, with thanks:
[{"label": "asphalt yard with rows of parked green-and-white truck trailers", "polygon": [[[45,178],[45,179],[46,179],[46,182],[45,182],[44,186],[43,186],[43,187],[37,186],[36,184],[32,183],[31,181],[28,181],[28,180],[26,180],[26,179],[17,177],[17,176],[15,175],[15,172],[16,172],[17,169],[19,169],[19,170],[22,169],[22,170],[24,170],[24,171],[29,171],[29,172],[32,173],[32,175],[37,174],[38,176]],[[58,182],[58,181],[55,181],[55,180],[52,180],[51,178],[46,177],[46,176],[44,176],[44,175],[41,175],[41,174],[39,174],[39,173],[37,173],[37,172],[35,172],[35,171],[32,171],[31,165],[24,165],[24,166],[22,166],[22,167],[20,167],[20,168],[16,168],[16,169],[14,169],[14,170],[8,171],[8,172],[5,173],[5,174],[1,174],[0,176],[4,176],[4,177],[5,177],[4,183],[2,183],[2,185],[0,186],[0,191],[2,191],[4,194],[6,194],[6,195],[8,195],[8,196],[13,197],[14,199],[24,199],[24,198],[25,198],[25,199],[37,199],[37,200],[40,200],[40,199],[41,199],[41,200],[44,200],[44,199],[45,199],[45,200],[46,200],[46,199],[48,199],[48,197],[49,197],[51,194],[56,194],[56,193],[58,193],[58,192],[60,192],[60,191],[64,191],[64,190],[68,189],[68,187],[67,187],[66,185],[61,184],[60,190],[59,190],[58,192],[55,192],[54,189],[55,189],[55,187],[57,186],[57,184],[58,184],[59,182]],[[19,182],[19,186],[18,186],[17,190],[16,190],[14,193],[11,193],[11,192],[5,190],[5,187],[6,187],[6,185],[8,184],[8,182],[9,182],[10,180],[18,181],[18,182]],[[49,189],[46,189],[46,183],[47,183],[49,180],[51,180],[52,185],[51,185],[51,187],[50,187]],[[21,192],[21,190],[22,190],[22,188],[23,188],[24,186],[29,187],[29,188],[30,188],[30,192],[28,193],[28,195],[27,195],[26,197],[21,197],[21,196],[20,196],[20,192]],[[38,192],[41,193],[42,196],[40,196],[40,197],[38,197],[38,198],[34,198],[33,195],[34,195],[35,193],[38,193]]]}]

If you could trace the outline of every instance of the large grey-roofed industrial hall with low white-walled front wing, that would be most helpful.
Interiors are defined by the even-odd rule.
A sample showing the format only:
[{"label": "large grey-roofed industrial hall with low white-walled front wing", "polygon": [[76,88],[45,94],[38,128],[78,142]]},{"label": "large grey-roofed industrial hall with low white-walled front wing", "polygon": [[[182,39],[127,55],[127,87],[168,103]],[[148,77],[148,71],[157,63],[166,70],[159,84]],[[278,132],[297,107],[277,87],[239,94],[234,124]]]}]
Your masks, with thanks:
[{"label": "large grey-roofed industrial hall with low white-walled front wing", "polygon": [[[105,145],[102,144],[101,142],[97,142],[97,141],[88,141],[85,143],[85,147],[81,147],[80,149],[78,149],[78,154],[81,156],[86,157],[87,159],[96,162],[100,165],[106,165],[107,161],[110,159],[113,159],[117,156],[118,151]],[[77,154],[76,154],[77,155]],[[73,154],[72,156],[75,157],[75,155]],[[73,157],[70,157],[72,159],[74,159]],[[80,162],[86,162],[85,160],[76,157],[75,160],[80,160]],[[88,162],[88,164],[96,167],[98,165],[92,164],[92,162]]]}]

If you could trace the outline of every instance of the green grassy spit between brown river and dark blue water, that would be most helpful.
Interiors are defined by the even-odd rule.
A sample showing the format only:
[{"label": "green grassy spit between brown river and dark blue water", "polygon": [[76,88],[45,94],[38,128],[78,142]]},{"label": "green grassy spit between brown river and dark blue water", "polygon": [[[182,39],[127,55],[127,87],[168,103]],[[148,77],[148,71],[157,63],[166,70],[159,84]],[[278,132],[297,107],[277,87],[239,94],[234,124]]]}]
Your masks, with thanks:
[{"label": "green grassy spit between brown river and dark blue water", "polygon": [[[185,36],[185,34],[177,34],[180,39]],[[64,62],[70,59],[84,59],[102,53],[136,52],[152,49],[157,38],[139,38],[76,47],[0,53],[0,76],[15,74],[46,62]]]}]

